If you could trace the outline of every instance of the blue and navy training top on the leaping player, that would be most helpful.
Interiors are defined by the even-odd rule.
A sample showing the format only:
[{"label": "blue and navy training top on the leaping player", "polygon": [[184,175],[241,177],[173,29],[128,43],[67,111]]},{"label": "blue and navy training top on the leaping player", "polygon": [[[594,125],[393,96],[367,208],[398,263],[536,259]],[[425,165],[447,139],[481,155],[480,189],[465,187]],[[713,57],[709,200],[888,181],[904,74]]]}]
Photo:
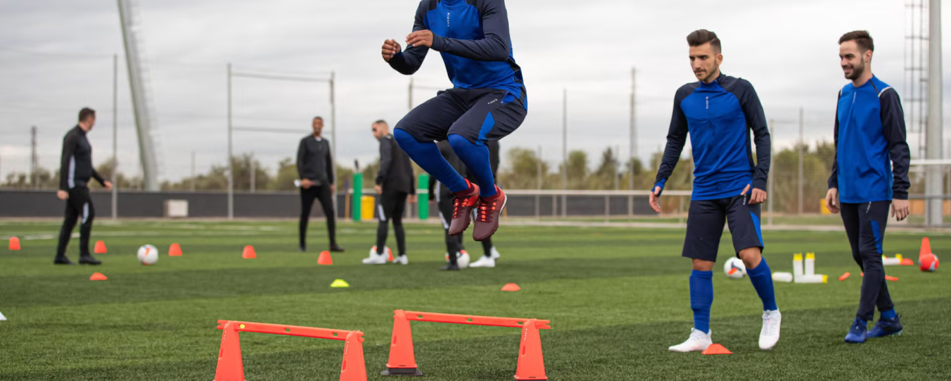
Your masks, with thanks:
[{"label": "blue and navy training top on the leaping player", "polygon": [[[413,31],[433,32],[433,50],[442,54],[457,88],[497,88],[519,98],[522,72],[515,64],[504,0],[422,0]],[[429,48],[410,47],[390,59],[406,75],[422,65]],[[510,100],[511,100],[510,99]]]}]

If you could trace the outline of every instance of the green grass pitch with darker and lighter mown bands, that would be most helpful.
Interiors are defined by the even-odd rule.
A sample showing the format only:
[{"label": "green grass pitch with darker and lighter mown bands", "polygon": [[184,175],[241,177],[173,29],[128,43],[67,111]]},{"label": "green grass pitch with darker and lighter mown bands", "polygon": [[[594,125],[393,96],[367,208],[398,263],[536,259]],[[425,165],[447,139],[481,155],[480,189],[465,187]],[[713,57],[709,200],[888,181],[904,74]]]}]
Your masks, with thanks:
[{"label": "green grass pitch with darker and lighter mown bands", "polygon": [[[495,269],[443,273],[436,224],[407,227],[409,266],[365,266],[375,223],[343,223],[333,266],[318,266],[323,226],[311,228],[311,252],[296,250],[291,222],[97,222],[105,264],[54,267],[56,222],[0,222],[0,237],[23,250],[0,248],[0,379],[204,380],[214,378],[218,319],[360,330],[369,379],[382,380],[393,310],[536,317],[553,380],[947,380],[951,379],[951,276],[941,269],[888,267],[905,332],[846,345],[861,277],[844,233],[764,232],[773,271],[791,271],[792,254],[817,253],[816,270],[830,283],[777,283],[784,314],[776,349],[757,347],[762,305],[747,279],[715,269],[711,328],[732,355],[670,353],[689,335],[689,260],[684,232],[503,226],[495,236]],[[467,232],[471,233],[471,232]],[[920,235],[890,233],[886,254],[917,259]],[[931,236],[935,253],[951,252],[951,236]],[[392,242],[391,235],[391,244]],[[69,256],[76,260],[76,241]],[[178,242],[184,257],[166,257]],[[721,263],[732,249],[728,235]],[[156,245],[163,257],[141,266],[136,248]],[[258,257],[243,259],[244,245]],[[467,240],[470,252],[481,247]],[[951,257],[948,257],[951,258]],[[947,266],[947,265],[945,265]],[[93,272],[105,282],[87,280]],[[853,276],[835,280],[844,272]],[[349,289],[331,289],[335,278]],[[522,291],[499,288],[518,283]],[[519,331],[414,323],[417,364],[426,380],[513,379]],[[242,333],[248,380],[337,380],[339,341]]]}]

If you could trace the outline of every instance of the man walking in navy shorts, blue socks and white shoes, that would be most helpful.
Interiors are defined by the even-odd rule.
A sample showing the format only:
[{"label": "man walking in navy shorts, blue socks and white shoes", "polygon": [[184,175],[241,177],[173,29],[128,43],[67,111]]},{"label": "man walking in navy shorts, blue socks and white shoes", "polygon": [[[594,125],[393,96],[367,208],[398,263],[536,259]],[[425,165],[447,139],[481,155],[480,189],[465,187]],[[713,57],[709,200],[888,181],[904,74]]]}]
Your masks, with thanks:
[{"label": "man walking in navy shorts, blue socks and white shoes", "polygon": [[[720,72],[723,54],[716,33],[706,29],[687,36],[690,66],[699,82],[681,86],[674,96],[673,116],[664,159],[650,194],[650,207],[660,213],[664,183],[680,160],[690,136],[694,181],[687,219],[683,257],[693,260],[690,274],[690,309],[693,330],[671,352],[704,351],[710,340],[710,306],[713,304],[713,263],[729,223],[736,256],[743,260],[756,293],[763,300],[760,349],[770,350],[779,341],[782,315],[776,307],[772,272],[762,257],[760,203],[767,200],[769,130],[763,106],[746,80]],[[756,162],[749,146],[752,131]]]}]

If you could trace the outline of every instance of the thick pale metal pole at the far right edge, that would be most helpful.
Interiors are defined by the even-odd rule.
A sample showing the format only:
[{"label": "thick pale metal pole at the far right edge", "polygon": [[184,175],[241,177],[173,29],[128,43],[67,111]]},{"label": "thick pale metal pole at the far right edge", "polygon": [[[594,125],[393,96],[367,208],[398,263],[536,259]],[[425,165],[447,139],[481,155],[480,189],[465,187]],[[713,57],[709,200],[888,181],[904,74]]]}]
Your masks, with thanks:
[{"label": "thick pale metal pole at the far right edge", "polygon": [[[927,159],[941,159],[942,134],[941,113],[941,0],[931,0],[928,9],[928,124],[925,153]],[[924,202],[927,205],[926,225],[938,227],[944,223],[943,200],[941,200],[941,165],[929,165],[926,169]]]}]

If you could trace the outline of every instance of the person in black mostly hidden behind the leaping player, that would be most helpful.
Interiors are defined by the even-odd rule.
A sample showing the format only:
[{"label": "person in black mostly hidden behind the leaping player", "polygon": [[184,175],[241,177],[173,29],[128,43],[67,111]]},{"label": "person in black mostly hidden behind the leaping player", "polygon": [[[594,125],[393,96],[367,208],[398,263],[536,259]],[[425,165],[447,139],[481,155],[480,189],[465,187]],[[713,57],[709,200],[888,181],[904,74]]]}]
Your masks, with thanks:
[{"label": "person in black mostly hidden behind the leaping player", "polygon": [[[495,142],[486,142],[486,147],[489,148],[489,163],[492,165],[492,174],[495,177],[495,182],[498,182],[498,162],[499,162],[499,146],[498,141]],[[453,169],[456,169],[460,174],[469,178],[468,171],[466,170],[465,164],[456,156],[456,152],[453,151],[452,146],[449,141],[442,141],[437,143],[439,147],[439,153],[442,154],[442,157],[446,159],[446,162],[449,162],[453,166]],[[438,189],[437,189],[438,187]],[[462,244],[462,235],[450,236],[449,235],[449,221],[453,219],[453,193],[449,191],[449,188],[446,185],[439,183],[435,177],[429,178],[429,199],[435,200],[439,208],[439,220],[442,222],[442,228],[445,231],[446,236],[446,253],[449,254],[449,263],[445,266],[439,268],[440,270],[459,270],[457,255],[460,255],[462,250],[465,250],[465,245]],[[482,250],[484,252],[483,258],[479,258],[473,264],[470,264],[472,267],[495,267],[495,258],[498,257],[498,252],[495,251],[495,245],[492,243],[492,238],[486,238],[482,240]],[[473,266],[474,264],[477,265]]]}]

